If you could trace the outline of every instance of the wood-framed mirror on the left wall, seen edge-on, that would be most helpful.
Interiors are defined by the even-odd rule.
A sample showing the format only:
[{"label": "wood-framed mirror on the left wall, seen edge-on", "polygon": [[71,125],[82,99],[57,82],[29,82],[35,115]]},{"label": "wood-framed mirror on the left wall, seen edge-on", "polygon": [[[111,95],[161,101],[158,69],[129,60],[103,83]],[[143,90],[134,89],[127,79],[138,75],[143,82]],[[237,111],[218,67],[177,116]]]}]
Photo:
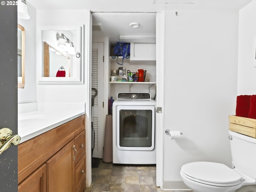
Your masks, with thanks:
[{"label": "wood-framed mirror on the left wall, seen edge-on", "polygon": [[25,29],[18,24],[18,88],[25,86]]}]

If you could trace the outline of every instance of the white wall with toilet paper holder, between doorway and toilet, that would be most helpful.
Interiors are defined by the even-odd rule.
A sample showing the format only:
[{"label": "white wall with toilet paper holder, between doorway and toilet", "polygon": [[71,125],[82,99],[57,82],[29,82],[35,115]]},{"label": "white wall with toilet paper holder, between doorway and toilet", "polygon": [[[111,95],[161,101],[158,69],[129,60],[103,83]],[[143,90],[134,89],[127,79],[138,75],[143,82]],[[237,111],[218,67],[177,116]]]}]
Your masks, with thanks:
[{"label": "white wall with toilet paper holder, between doorway and toilet", "polygon": [[[228,115],[237,93],[238,12],[166,11],[164,188],[184,187],[183,164],[214,161],[231,166]],[[162,130],[164,131],[164,130]]]}]

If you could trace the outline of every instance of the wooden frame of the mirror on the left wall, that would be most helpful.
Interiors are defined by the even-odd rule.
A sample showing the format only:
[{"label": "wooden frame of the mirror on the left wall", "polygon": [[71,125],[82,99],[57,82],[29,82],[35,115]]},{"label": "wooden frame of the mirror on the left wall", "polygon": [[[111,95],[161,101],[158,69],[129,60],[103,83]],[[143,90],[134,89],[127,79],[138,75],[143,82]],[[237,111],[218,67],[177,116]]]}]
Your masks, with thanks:
[{"label": "wooden frame of the mirror on the left wall", "polygon": [[[22,30],[22,45],[21,45],[21,77],[18,77],[18,88],[25,86],[25,28],[18,24],[18,28]],[[18,55],[17,55],[18,57]],[[20,81],[21,80],[21,81]],[[19,83],[21,82],[21,83]]]}]

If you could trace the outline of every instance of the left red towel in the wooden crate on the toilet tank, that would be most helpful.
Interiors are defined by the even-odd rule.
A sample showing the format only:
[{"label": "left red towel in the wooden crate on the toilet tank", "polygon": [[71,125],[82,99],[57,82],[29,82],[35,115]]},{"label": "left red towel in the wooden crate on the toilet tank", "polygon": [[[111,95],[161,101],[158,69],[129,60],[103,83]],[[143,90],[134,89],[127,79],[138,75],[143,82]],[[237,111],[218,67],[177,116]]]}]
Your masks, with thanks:
[{"label": "left red towel in the wooden crate on the toilet tank", "polygon": [[250,98],[251,95],[240,95],[236,97],[236,116],[248,117]]}]

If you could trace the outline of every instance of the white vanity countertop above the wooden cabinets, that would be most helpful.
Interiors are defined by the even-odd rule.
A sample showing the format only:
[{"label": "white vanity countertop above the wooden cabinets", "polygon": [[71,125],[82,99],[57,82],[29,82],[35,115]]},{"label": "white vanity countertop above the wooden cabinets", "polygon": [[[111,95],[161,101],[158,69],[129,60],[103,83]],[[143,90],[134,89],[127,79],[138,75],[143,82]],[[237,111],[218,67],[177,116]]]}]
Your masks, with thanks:
[{"label": "white vanity countertop above the wooden cabinets", "polygon": [[85,114],[84,103],[18,104],[20,143]]}]

